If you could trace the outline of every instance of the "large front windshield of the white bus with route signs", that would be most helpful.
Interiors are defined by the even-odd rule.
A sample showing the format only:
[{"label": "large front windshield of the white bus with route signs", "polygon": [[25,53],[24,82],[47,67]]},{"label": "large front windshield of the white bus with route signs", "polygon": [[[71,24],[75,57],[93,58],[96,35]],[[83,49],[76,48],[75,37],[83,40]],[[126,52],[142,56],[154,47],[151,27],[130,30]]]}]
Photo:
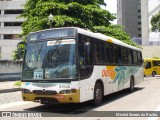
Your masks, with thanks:
[{"label": "large front windshield of the white bus with route signs", "polygon": [[63,79],[77,77],[75,40],[28,43],[22,79]]}]

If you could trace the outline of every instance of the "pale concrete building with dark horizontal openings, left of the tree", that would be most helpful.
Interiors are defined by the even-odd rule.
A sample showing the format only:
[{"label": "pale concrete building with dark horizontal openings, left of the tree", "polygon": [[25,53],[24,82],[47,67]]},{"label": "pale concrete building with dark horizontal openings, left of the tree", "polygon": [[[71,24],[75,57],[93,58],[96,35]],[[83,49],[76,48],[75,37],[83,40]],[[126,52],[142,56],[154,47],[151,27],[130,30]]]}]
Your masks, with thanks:
[{"label": "pale concrete building with dark horizontal openings, left of the tree", "polygon": [[0,60],[11,60],[13,50],[21,41],[21,24],[17,19],[22,13],[25,0],[0,0]]}]

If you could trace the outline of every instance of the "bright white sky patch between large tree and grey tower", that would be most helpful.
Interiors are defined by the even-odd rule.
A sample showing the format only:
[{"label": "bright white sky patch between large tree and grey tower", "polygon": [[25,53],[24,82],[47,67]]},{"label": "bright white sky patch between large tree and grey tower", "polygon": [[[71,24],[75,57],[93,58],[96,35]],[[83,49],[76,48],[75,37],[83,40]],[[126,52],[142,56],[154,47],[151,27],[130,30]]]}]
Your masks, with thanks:
[{"label": "bright white sky patch between large tree and grey tower", "polygon": [[[108,10],[111,13],[117,14],[117,0],[104,0],[104,2],[107,4],[107,6],[103,6],[102,8]],[[117,20],[114,20],[112,23],[117,24]]]}]

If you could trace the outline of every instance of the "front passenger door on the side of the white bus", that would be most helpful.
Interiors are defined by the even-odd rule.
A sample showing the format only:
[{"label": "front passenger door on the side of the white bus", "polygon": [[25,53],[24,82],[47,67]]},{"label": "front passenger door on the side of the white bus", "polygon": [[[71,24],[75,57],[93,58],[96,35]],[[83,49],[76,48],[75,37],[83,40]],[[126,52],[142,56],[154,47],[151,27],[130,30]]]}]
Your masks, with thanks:
[{"label": "front passenger door on the side of the white bus", "polygon": [[79,34],[78,37],[78,62],[80,77],[80,101],[86,101],[92,98],[93,90],[91,78],[93,72],[92,62],[92,39]]}]

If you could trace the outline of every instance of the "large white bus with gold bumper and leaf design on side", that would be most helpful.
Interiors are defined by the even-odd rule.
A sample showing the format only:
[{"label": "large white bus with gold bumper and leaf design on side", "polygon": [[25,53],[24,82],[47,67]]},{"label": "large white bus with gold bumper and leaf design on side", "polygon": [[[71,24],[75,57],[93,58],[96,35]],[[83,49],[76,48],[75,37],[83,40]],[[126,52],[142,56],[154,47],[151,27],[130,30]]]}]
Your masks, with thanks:
[{"label": "large white bus with gold bumper and leaf design on side", "polygon": [[143,81],[139,48],[78,27],[31,32],[22,68],[24,101],[81,103],[98,106],[105,95],[134,90]]}]

